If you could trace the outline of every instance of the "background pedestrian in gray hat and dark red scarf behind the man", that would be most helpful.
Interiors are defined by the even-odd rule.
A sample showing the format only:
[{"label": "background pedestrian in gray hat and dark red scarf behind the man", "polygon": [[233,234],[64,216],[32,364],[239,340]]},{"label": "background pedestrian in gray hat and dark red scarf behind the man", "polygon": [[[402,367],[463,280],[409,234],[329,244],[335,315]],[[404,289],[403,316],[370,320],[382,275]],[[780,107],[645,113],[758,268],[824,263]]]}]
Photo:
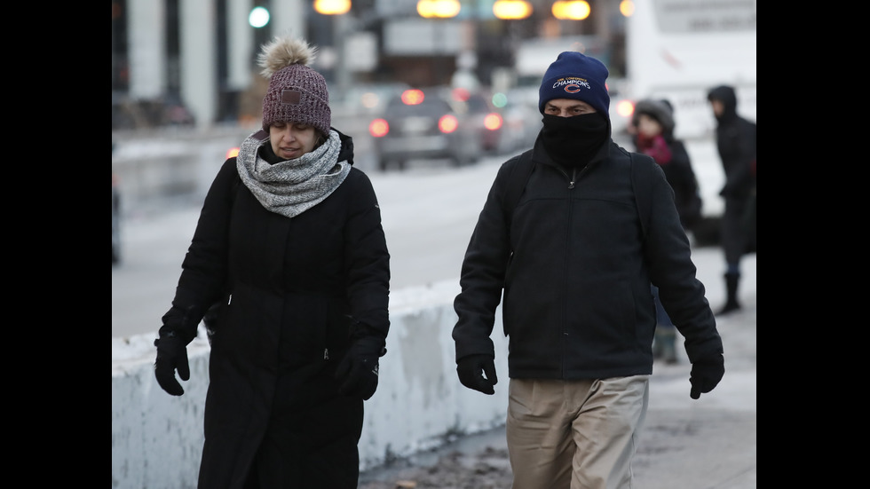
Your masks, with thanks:
[{"label": "background pedestrian in gray hat and dark red scarf behind the man", "polygon": [[[676,212],[687,232],[700,221],[701,198],[698,179],[682,140],[674,136],[673,106],[667,100],[644,99],[637,102],[631,125],[635,128],[637,152],[651,156],[665,172],[674,190]],[[656,309],[653,358],[673,364],[676,359],[676,327],[659,299],[659,288],[652,285]]]}]

